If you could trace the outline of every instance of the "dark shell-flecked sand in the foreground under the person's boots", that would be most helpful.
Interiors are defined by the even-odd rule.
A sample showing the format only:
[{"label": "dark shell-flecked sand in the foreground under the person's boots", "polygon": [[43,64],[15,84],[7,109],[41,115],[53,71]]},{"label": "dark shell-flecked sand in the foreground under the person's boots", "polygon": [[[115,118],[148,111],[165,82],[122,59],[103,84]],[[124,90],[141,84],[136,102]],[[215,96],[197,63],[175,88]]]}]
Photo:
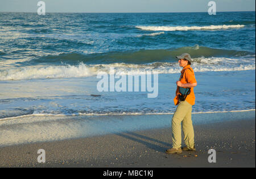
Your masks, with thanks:
[{"label": "dark shell-flecked sand in the foreground under the person's boots", "polygon": [[[160,128],[1,147],[0,166],[255,167],[255,118],[194,127],[196,152],[166,154],[171,147],[171,129]],[[40,148],[46,151],[46,163],[37,161]],[[217,152],[216,163],[208,163],[210,148]]]}]

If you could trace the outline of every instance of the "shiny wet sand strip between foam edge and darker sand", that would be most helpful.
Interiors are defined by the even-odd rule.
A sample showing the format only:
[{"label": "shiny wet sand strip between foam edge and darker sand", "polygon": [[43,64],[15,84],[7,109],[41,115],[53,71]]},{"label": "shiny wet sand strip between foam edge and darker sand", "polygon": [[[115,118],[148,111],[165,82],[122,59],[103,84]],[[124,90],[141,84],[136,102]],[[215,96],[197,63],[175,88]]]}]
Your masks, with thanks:
[{"label": "shiny wet sand strip between foam edge and darker sand", "polygon": [[[0,121],[0,147],[169,128],[172,115],[28,116]],[[255,111],[192,114],[193,124],[255,119]],[[8,136],[8,138],[6,138]]]}]

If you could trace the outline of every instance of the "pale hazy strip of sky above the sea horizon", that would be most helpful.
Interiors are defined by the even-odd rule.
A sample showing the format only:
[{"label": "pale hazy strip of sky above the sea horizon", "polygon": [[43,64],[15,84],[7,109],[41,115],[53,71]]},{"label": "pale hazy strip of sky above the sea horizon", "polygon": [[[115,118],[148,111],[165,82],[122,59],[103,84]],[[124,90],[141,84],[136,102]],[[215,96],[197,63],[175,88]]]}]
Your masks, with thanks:
[{"label": "pale hazy strip of sky above the sea horizon", "polygon": [[[39,0],[0,0],[2,12],[37,12]],[[46,13],[207,12],[206,0],[44,0]],[[255,0],[216,0],[218,11],[255,11]]]}]

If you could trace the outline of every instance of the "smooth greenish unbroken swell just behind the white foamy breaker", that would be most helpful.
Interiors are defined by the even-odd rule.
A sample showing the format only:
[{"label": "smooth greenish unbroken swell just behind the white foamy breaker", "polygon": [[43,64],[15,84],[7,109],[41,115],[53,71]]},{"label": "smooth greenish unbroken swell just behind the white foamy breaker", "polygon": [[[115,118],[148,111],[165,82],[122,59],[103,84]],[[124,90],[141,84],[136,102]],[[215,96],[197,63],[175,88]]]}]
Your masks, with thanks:
[{"label": "smooth greenish unbroken swell just behind the white foamy breaker", "polygon": [[146,64],[160,62],[176,62],[176,56],[182,53],[189,53],[192,58],[197,57],[218,57],[218,56],[230,56],[240,57],[246,55],[255,55],[252,52],[235,51],[227,49],[216,49],[194,45],[192,47],[181,47],[176,49],[141,49],[138,51],[116,51],[106,53],[61,53],[59,55],[48,55],[39,57],[38,59],[32,59],[21,63],[16,63],[19,66],[30,65],[77,65],[79,63],[84,64],[112,64],[112,63],[126,63],[126,64]]}]

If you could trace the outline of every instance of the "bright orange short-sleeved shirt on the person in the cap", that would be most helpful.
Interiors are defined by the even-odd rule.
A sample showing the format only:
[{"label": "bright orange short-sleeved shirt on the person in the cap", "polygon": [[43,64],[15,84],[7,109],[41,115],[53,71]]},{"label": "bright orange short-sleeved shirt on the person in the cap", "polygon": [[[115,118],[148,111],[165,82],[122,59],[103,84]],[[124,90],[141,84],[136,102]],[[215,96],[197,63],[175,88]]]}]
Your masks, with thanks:
[{"label": "bright orange short-sleeved shirt on the person in the cap", "polygon": [[[189,70],[189,69],[191,70]],[[187,69],[187,70],[186,70]],[[185,66],[182,70],[181,70],[181,75],[180,77],[183,75],[183,77],[180,79],[180,82],[182,84],[193,84],[196,82],[196,77],[195,77],[195,73],[194,70],[190,67],[190,65]],[[177,86],[176,89],[176,93],[179,93],[179,86]],[[180,93],[179,93],[180,94]],[[195,105],[195,101],[196,101],[196,97],[195,97],[195,93],[194,93],[194,88],[191,88],[190,94],[187,95],[187,98],[185,99],[185,101],[187,101],[189,104],[191,105]],[[177,105],[179,103],[179,97],[176,96],[174,98],[174,104]]]}]

